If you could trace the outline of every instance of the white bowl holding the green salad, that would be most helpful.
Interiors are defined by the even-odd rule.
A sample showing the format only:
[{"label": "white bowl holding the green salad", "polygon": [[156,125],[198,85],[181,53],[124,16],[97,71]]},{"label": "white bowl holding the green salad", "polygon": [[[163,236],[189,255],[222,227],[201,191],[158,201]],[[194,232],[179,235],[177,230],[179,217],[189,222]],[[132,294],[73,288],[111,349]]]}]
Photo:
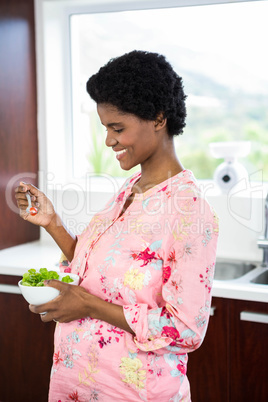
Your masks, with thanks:
[{"label": "white bowl holding the green salad", "polygon": [[[78,285],[79,284],[79,276],[71,273],[59,272],[60,279],[64,276],[70,275],[73,279],[73,282],[70,282],[69,285]],[[52,288],[51,286],[24,286],[21,284],[22,279],[19,281],[18,285],[22,296],[29,304],[34,304],[39,306],[40,304],[47,303],[55,297],[57,297],[60,292],[58,289]]]}]

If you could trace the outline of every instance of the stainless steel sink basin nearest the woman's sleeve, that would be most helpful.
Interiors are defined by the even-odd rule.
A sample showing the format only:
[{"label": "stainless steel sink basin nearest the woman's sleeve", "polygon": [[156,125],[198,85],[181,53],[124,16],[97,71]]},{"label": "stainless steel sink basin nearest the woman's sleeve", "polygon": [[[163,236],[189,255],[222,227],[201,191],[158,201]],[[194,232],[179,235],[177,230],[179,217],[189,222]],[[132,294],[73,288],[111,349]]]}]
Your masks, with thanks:
[{"label": "stainless steel sink basin nearest the woman's sleeve", "polygon": [[[254,268],[256,268],[256,265],[247,262],[217,261],[214,279],[220,281],[237,279],[252,271]],[[266,280],[267,278],[268,277],[266,277]]]}]

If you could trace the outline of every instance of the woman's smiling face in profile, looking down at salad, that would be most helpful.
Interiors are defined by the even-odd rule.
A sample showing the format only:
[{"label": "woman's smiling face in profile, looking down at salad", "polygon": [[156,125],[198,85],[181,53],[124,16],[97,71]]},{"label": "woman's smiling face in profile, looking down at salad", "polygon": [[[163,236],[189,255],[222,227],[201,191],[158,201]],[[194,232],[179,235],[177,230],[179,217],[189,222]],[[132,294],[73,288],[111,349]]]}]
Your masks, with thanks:
[{"label": "woman's smiling face in profile, looking down at salad", "polygon": [[106,145],[113,148],[122,169],[150,164],[157,158],[163,141],[161,125],[157,121],[142,120],[110,104],[98,104],[97,111],[106,127]]}]

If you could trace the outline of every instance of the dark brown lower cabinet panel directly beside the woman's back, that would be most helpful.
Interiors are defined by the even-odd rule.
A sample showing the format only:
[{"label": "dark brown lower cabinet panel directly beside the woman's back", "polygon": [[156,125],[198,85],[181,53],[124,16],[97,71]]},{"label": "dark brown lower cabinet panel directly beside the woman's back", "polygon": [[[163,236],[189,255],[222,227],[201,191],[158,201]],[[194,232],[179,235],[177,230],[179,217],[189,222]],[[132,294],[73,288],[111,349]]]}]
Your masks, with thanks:
[{"label": "dark brown lower cabinet panel directly beside the woman's back", "polygon": [[212,299],[211,316],[204,342],[198,350],[189,353],[187,375],[192,402],[229,400],[228,303],[227,299]]}]

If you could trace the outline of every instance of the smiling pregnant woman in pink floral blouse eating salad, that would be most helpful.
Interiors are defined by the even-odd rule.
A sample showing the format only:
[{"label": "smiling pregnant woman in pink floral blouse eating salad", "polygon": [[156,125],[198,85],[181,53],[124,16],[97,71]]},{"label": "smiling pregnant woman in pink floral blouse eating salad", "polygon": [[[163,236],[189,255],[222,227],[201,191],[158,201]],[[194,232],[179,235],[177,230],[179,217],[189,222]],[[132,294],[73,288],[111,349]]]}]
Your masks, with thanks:
[{"label": "smiling pregnant woman in pink floral blouse eating salad", "polygon": [[87,91],[121,168],[141,172],[78,237],[42,192],[16,190],[22,217],[50,233],[81,278],[49,281],[60,295],[30,306],[58,322],[49,401],[190,401],[187,354],[208,324],[218,224],[174,149],[185,126],[182,79],[163,56],[133,51],[102,67]]}]

